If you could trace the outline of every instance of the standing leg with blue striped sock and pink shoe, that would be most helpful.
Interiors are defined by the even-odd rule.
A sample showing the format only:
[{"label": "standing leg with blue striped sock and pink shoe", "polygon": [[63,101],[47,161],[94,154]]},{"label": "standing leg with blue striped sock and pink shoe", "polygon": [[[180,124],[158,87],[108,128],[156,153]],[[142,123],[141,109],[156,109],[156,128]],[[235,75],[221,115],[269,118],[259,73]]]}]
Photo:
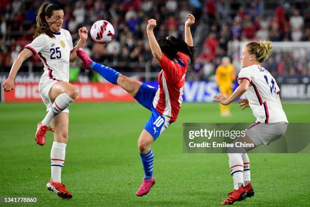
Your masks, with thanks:
[{"label": "standing leg with blue striped sock and pink shoe", "polygon": [[144,179],[140,188],[136,192],[137,196],[146,195],[151,187],[155,185],[155,180],[153,177],[154,155],[150,149],[153,142],[153,137],[145,129],[143,129],[138,140],[138,148],[144,168]]}]

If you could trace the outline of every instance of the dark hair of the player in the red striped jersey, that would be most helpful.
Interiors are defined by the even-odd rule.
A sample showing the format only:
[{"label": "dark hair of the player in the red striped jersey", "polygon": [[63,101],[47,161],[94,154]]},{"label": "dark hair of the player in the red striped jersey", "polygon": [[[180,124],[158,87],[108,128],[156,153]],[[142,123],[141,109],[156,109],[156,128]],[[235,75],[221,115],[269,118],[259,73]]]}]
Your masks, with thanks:
[{"label": "dark hair of the player in the red striped jersey", "polygon": [[169,36],[168,38],[164,37],[159,39],[158,44],[165,55],[173,60],[177,58],[178,52],[182,52],[189,56],[190,64],[192,65],[196,59],[196,49],[195,47],[188,46],[184,40],[181,38],[176,38],[173,36]]}]

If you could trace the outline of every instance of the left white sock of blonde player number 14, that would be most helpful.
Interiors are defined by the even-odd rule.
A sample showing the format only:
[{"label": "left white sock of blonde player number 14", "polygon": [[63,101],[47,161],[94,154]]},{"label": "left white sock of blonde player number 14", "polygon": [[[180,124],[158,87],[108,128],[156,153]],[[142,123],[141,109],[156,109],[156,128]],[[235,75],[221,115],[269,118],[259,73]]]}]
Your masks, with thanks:
[{"label": "left white sock of blonde player number 14", "polygon": [[229,170],[234,180],[234,189],[238,190],[243,185],[243,161],[241,153],[228,153]]}]

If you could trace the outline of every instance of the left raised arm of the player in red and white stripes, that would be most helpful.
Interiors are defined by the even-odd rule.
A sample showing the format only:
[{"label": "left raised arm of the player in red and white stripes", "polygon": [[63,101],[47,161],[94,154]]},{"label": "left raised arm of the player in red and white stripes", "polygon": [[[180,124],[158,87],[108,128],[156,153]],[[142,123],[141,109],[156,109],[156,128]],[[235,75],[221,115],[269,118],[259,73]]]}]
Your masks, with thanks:
[{"label": "left raised arm of the player in red and white stripes", "polygon": [[153,29],[156,27],[156,20],[155,19],[150,19],[147,21],[147,26],[146,26],[146,33],[147,33],[147,38],[149,42],[150,49],[152,51],[153,56],[158,60],[161,61],[162,59],[162,50],[159,46],[159,44],[156,41],[156,38],[154,36]]}]

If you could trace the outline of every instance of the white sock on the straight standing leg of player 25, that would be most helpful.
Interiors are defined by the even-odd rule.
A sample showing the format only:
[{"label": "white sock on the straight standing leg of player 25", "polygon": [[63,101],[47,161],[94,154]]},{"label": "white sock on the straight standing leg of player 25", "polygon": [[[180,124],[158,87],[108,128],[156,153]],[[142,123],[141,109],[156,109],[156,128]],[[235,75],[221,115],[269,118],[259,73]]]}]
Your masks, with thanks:
[{"label": "white sock on the straight standing leg of player 25", "polygon": [[64,165],[67,144],[53,142],[51,150],[51,180],[61,183],[61,169]]}]

